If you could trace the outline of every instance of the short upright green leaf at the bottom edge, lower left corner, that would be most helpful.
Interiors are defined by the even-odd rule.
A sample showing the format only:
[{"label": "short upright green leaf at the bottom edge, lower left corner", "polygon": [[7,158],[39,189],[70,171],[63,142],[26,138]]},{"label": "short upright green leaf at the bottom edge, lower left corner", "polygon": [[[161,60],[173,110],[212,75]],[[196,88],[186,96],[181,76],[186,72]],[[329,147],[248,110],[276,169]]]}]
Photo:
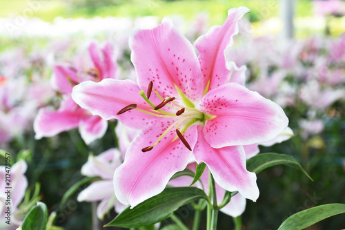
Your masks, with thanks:
[{"label": "short upright green leaf at the bottom edge, lower left corner", "polygon": [[48,222],[48,210],[46,204],[37,202],[26,215],[21,224],[21,229],[25,230],[46,230]]}]

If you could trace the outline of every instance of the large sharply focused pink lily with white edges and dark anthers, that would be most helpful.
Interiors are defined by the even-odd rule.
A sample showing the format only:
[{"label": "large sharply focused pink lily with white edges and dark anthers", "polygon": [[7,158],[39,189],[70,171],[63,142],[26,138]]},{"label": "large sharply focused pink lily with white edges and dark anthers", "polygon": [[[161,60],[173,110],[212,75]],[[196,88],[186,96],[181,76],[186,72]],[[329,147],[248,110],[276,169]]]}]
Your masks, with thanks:
[{"label": "large sharply focused pink lily with white edges and dark anthers", "polygon": [[104,79],[73,88],[82,108],[142,130],[115,171],[115,194],[123,204],[135,207],[161,193],[193,157],[207,164],[223,189],[257,200],[256,175],[246,170],[242,145],[272,139],[288,118],[274,102],[228,83],[224,50],[248,11],[230,9],[222,26],[199,37],[199,57],[168,19],[152,30],[135,30],[130,48],[137,84]]}]

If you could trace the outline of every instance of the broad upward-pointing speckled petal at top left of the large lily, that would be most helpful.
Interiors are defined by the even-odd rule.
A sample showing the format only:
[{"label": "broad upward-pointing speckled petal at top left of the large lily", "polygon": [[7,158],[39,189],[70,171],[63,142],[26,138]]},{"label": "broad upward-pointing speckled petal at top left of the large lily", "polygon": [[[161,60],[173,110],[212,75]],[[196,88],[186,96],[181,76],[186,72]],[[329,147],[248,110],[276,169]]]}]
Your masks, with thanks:
[{"label": "broad upward-pointing speckled petal at top left of the large lily", "polygon": [[204,93],[204,82],[192,44],[172,26],[163,22],[152,30],[135,30],[130,37],[131,60],[138,84],[146,90],[150,81],[162,97],[178,97],[177,86],[193,101]]}]

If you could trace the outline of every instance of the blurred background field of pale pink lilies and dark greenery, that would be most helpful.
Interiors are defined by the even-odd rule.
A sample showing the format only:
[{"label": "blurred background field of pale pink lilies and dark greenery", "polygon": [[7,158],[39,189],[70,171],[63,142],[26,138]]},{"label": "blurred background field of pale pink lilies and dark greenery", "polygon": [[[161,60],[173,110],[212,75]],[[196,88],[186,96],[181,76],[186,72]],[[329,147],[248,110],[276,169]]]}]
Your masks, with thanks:
[{"label": "blurred background field of pale pink lilies and dark greenery", "polygon": [[[0,6],[0,148],[12,154],[13,163],[26,161],[28,197],[34,197],[39,183],[39,198],[57,213],[55,225],[95,229],[95,204],[77,202],[87,184],[62,206],[59,202],[83,178],[80,169],[89,153],[116,146],[116,122],[108,122],[105,135],[91,144],[77,128],[36,140],[33,122],[39,109],[58,109],[62,98],[51,86],[53,66],[83,65],[80,59],[91,42],[108,41],[117,78],[132,79],[132,28],[153,28],[170,17],[193,43],[239,6],[250,13],[240,21],[228,57],[247,66],[246,86],[282,106],[295,133],[282,144],[260,146],[260,152],[292,155],[314,180],[288,166],[259,173],[260,197],[247,202],[242,229],[277,229],[298,211],[345,203],[345,1],[0,0]],[[177,214],[191,226],[193,213]],[[220,213],[219,229],[231,229],[232,221]],[[308,229],[345,229],[344,215]]]}]

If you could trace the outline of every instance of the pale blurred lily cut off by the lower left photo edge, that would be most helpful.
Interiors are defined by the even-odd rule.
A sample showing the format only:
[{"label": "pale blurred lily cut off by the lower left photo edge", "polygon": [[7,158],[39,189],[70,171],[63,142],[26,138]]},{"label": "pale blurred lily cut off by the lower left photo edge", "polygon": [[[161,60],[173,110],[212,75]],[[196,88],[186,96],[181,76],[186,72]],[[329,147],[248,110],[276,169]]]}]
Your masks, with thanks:
[{"label": "pale blurred lily cut off by the lower left photo edge", "polygon": [[[26,180],[26,176],[24,173],[26,172],[26,169],[28,168],[28,165],[25,161],[19,160],[11,167],[11,193],[10,193],[10,210],[11,210],[11,218],[10,222],[11,225],[6,224],[6,216],[7,214],[5,211],[7,210],[6,207],[8,207],[8,196],[6,195],[7,189],[5,189],[6,186],[6,167],[0,166],[0,217],[3,221],[0,222],[0,229],[16,229],[21,223],[23,222],[23,213],[21,213],[21,210],[18,209],[19,204],[21,200],[23,200],[26,188],[28,187],[28,180]],[[25,213],[24,213],[25,214]]]}]

